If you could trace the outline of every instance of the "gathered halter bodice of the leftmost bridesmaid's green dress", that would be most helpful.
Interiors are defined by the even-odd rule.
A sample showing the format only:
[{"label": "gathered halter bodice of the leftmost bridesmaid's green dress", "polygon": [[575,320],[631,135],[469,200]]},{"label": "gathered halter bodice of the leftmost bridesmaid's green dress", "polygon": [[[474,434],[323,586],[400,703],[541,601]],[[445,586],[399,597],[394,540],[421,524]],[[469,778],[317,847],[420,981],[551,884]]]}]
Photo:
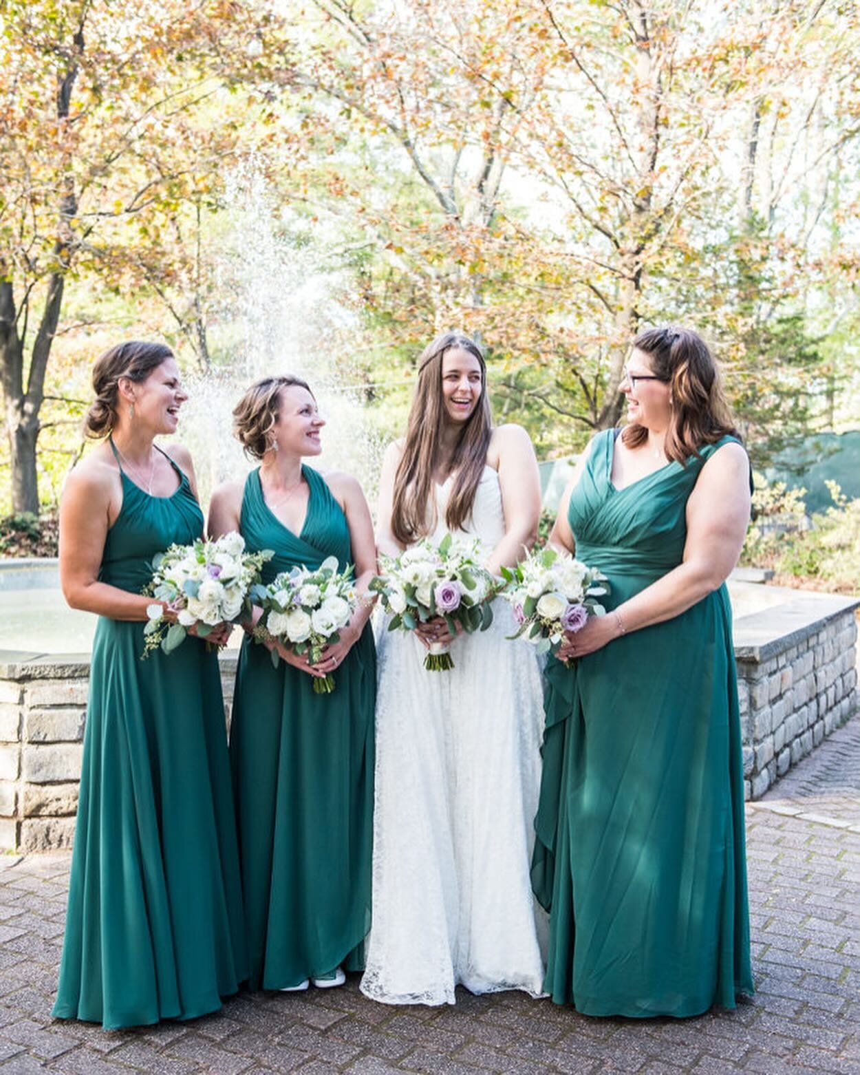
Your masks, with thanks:
[{"label": "gathered halter bodice of the leftmost bridesmaid's green dress", "polygon": [[187,545],[202,535],[203,513],[188,478],[170,456],[167,458],[180,477],[180,487],[171,497],[149,496],[120,467],[123,506],[108,531],[99,582],[140,592],[153,576],[157,553],[174,543]]}]

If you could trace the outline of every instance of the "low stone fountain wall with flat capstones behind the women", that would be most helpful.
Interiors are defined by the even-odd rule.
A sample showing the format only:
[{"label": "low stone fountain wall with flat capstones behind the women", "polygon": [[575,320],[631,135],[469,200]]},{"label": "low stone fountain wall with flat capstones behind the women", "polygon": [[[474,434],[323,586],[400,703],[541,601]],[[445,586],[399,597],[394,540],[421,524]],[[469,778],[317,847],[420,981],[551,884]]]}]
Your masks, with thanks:
[{"label": "low stone fountain wall with flat capstones behind the women", "polygon": [[[734,625],[747,799],[857,708],[860,601],[773,587],[764,593],[772,606]],[[229,723],[235,653],[223,655],[220,666]],[[86,656],[0,653],[0,849],[71,844],[88,676]]]}]

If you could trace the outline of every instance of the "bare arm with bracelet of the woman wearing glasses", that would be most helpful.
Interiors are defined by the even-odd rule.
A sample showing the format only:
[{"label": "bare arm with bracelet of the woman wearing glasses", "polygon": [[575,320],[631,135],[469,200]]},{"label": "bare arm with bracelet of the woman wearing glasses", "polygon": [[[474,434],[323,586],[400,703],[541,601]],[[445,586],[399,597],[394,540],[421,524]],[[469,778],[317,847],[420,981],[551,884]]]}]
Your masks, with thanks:
[{"label": "bare arm with bracelet of the woman wearing glasses", "polygon": [[608,616],[589,619],[571,637],[573,651],[565,642],[559,656],[593,653],[619,634],[679,616],[718,589],[741,555],[749,503],[749,459],[740,444],[725,444],[702,468],[687,501],[682,563]]}]

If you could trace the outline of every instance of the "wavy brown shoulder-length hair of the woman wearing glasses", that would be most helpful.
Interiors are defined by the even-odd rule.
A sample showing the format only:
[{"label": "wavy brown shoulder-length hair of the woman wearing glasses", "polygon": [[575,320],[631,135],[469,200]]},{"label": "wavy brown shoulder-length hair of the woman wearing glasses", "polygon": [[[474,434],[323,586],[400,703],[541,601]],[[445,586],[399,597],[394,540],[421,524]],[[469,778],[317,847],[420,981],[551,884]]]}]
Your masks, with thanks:
[{"label": "wavy brown shoulder-length hair of the woman wearing glasses", "polygon": [[[686,463],[703,444],[721,436],[741,439],[722,392],[719,370],[707,344],[692,329],[659,328],[640,332],[633,347],[647,355],[651,369],[671,389],[672,418],[663,450],[669,460]],[[644,426],[625,426],[621,440],[637,448],[648,439]]]}]

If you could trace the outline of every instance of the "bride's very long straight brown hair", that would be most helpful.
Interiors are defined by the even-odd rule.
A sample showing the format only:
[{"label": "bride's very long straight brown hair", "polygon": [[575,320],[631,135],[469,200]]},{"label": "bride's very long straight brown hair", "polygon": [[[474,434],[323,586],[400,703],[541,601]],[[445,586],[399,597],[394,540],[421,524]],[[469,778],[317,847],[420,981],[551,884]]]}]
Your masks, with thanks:
[{"label": "bride's very long straight brown hair", "polygon": [[454,488],[445,511],[448,530],[460,530],[472,512],[475,491],[487,462],[492,435],[492,415],[487,396],[487,364],[481,347],[460,332],[443,332],[425,347],[418,360],[418,383],[410,408],[403,453],[395,475],[391,532],[401,545],[427,533],[427,505],[432,497],[433,474],[440,462],[445,426],[442,395],[442,361],[454,347],[469,352],[481,363],[481,396],[470,414],[450,461]]}]

